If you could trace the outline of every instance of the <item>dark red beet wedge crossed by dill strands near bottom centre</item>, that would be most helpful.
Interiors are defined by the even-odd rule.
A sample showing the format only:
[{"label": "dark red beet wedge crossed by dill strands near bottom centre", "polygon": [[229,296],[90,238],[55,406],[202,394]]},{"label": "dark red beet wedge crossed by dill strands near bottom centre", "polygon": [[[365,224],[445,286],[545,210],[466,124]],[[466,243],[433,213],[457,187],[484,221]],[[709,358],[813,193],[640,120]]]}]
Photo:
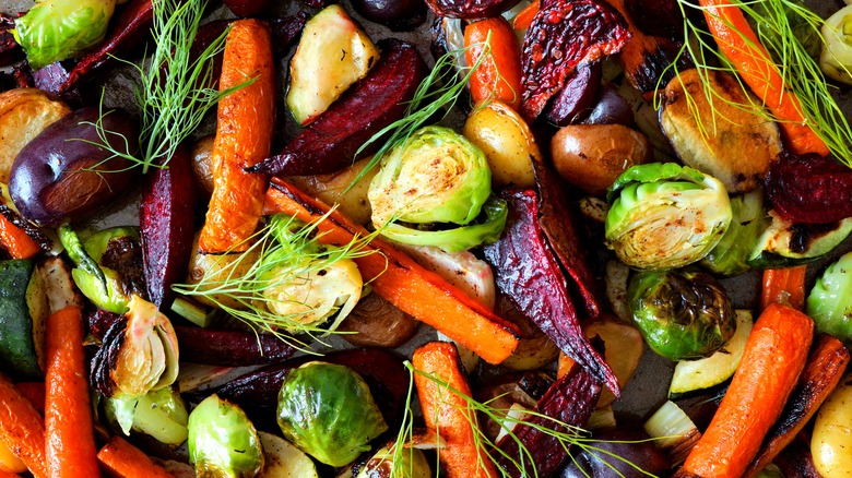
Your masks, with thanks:
[{"label": "dark red beet wedge crossed by dill strands near bottom centre", "polygon": [[[600,394],[601,385],[594,377],[580,367],[571,368],[547,390],[535,407],[539,414],[561,423],[557,425],[542,416],[533,416],[528,419],[530,425],[516,426],[514,438],[532,456],[521,456],[518,442],[511,435],[506,435],[497,443],[497,447],[502,452],[498,457],[499,465],[512,477],[533,476],[530,473],[533,464],[537,471],[535,476],[552,476],[561,468],[563,463],[568,458],[568,452],[556,438],[542,433],[533,426],[563,433],[568,432],[565,426],[583,427],[594,411]],[[504,453],[511,459],[504,456]],[[522,474],[512,461],[514,463],[523,461],[526,473]]]}]

